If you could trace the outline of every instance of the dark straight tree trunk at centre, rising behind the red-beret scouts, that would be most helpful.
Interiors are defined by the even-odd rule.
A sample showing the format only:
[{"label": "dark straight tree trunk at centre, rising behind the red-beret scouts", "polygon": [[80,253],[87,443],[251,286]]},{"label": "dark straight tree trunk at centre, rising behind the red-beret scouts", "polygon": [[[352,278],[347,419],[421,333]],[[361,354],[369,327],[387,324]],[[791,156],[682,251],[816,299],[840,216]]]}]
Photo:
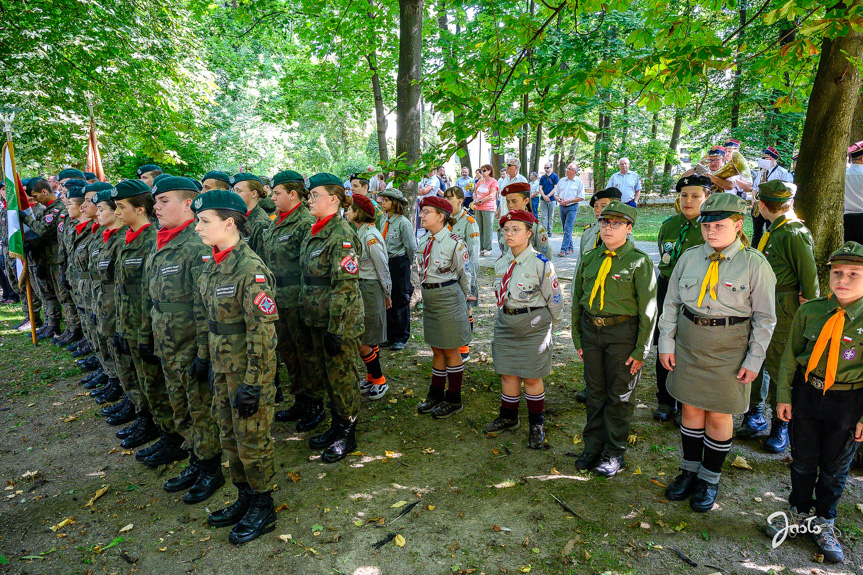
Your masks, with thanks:
[{"label": "dark straight tree trunk at centre, rising behind the red-beret scouts", "polygon": [[408,205],[417,197],[417,181],[407,178],[420,157],[423,0],[399,0],[399,71],[396,81],[396,156],[404,166],[396,174]]}]

